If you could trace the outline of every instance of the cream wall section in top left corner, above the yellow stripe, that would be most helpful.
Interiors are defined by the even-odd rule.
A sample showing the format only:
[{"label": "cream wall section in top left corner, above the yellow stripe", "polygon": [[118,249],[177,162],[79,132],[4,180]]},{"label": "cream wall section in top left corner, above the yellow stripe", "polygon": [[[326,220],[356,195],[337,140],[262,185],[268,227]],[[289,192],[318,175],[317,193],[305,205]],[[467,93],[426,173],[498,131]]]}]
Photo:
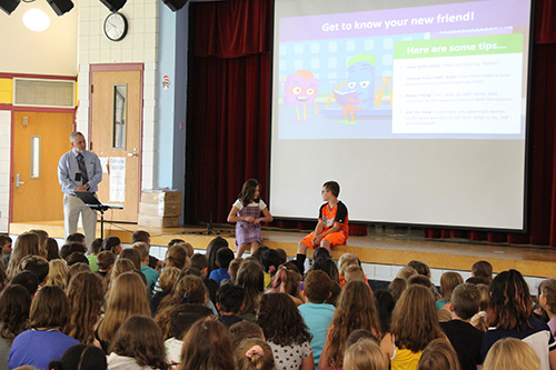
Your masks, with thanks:
[{"label": "cream wall section in top left corner, above the yellow stripe", "polygon": [[[0,11],[0,72],[33,74],[77,74],[78,4],[58,17],[46,0],[23,1],[8,16]],[[34,32],[23,26],[23,13],[38,8],[50,17],[50,28]]]}]

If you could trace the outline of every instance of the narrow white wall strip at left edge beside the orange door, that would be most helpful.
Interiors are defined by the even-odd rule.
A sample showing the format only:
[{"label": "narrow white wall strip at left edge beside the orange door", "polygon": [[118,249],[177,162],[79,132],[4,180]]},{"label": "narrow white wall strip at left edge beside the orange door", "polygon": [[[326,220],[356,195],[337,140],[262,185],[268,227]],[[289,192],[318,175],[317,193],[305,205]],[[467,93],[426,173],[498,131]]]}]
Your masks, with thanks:
[{"label": "narrow white wall strip at left edge beside the orange door", "polygon": [[8,232],[10,209],[11,111],[0,110],[0,232]]}]

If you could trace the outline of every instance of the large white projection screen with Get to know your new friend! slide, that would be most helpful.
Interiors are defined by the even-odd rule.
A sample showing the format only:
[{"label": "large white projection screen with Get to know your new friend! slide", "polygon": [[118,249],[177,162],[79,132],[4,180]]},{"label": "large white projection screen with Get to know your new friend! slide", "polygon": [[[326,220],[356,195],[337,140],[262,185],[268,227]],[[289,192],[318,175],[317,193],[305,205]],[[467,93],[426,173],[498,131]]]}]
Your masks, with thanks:
[{"label": "large white projection screen with Get to know your new friend! slide", "polygon": [[272,214],[525,228],[529,1],[275,7]]}]

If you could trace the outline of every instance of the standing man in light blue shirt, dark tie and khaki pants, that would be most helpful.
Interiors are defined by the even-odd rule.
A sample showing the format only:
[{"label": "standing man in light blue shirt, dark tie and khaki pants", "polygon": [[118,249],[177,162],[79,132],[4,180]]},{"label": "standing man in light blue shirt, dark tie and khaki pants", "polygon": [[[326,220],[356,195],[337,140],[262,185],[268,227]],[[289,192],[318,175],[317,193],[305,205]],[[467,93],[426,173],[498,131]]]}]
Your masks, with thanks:
[{"label": "standing man in light blue shirt, dark tie and khaki pants", "polygon": [[76,197],[76,191],[95,194],[102,181],[102,168],[97,154],[87,150],[87,141],[81,132],[73,132],[70,141],[73,149],[64,153],[58,163],[58,180],[63,192],[66,237],[77,232],[77,221],[81,214],[85,240],[90,249],[97,231],[97,214]]}]

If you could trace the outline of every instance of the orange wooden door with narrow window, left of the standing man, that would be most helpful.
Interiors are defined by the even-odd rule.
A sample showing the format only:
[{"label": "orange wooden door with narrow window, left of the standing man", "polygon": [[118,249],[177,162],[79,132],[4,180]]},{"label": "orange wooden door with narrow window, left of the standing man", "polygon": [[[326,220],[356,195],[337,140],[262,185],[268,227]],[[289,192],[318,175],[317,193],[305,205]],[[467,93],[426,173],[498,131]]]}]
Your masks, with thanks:
[{"label": "orange wooden door with narrow window, left of the standing man", "polygon": [[58,161],[72,129],[73,113],[14,112],[12,222],[63,220]]}]

